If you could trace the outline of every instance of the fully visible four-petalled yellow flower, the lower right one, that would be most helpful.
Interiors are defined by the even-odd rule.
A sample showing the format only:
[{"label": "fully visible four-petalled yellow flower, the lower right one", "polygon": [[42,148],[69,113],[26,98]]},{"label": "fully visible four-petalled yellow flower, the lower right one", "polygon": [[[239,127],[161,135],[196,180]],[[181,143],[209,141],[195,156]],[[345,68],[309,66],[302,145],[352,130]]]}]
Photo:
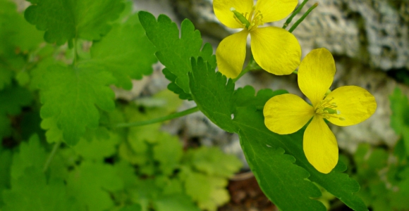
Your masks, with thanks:
[{"label": "fully visible four-petalled yellow flower, the lower right one", "polygon": [[274,96],[264,106],[264,124],[277,134],[297,132],[307,122],[303,148],[308,162],[319,172],[329,173],[338,162],[336,138],[324,119],[338,126],[358,124],[377,108],[374,96],[355,86],[339,87],[325,96],[332,84],[335,63],[326,49],[315,49],[298,68],[298,86],[312,106],[299,96]]}]

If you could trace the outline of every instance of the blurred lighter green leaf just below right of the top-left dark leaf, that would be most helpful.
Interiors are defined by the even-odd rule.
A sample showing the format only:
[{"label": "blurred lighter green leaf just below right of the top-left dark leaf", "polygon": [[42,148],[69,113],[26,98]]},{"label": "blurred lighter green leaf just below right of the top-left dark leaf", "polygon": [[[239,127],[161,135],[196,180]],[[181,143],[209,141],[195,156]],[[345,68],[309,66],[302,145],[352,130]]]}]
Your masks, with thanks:
[{"label": "blurred lighter green leaf just below right of the top-left dark leaf", "polygon": [[92,62],[102,65],[116,77],[117,87],[131,89],[130,79],[142,79],[152,74],[152,64],[157,62],[154,46],[147,39],[138,15],[126,23],[116,24],[101,41],[90,49]]}]

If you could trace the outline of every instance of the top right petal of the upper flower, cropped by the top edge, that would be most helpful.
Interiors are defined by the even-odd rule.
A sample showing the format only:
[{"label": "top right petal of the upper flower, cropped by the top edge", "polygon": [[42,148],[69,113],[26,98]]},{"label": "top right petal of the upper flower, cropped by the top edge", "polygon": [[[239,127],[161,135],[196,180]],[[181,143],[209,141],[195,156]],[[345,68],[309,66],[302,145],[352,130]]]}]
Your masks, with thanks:
[{"label": "top right petal of the upper flower, cropped by the top edge", "polygon": [[286,18],[295,6],[298,0],[259,0],[255,11],[260,11],[263,15],[263,22],[269,23]]}]

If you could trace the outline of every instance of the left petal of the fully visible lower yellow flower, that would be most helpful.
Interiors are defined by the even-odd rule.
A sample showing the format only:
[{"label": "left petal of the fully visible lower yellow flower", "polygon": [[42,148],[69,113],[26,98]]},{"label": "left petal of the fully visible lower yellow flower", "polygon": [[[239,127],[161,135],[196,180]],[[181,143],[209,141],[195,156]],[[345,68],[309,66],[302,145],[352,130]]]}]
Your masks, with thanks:
[{"label": "left petal of the fully visible lower yellow flower", "polygon": [[295,94],[281,94],[267,101],[263,114],[269,130],[276,134],[292,134],[311,120],[314,108]]}]

